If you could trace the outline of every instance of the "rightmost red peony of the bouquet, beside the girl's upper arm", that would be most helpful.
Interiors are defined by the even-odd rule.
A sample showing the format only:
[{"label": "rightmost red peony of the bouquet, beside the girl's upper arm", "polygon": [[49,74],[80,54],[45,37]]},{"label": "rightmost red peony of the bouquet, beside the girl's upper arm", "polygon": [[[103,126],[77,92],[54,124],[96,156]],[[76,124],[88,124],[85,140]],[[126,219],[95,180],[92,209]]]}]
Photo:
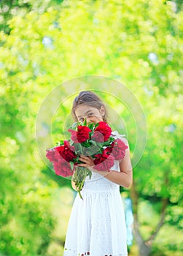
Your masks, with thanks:
[{"label": "rightmost red peony of the bouquet, beside the girl's upper arm", "polygon": [[116,160],[120,160],[125,157],[125,149],[127,149],[128,146],[126,146],[122,140],[114,140],[112,146],[112,154]]}]

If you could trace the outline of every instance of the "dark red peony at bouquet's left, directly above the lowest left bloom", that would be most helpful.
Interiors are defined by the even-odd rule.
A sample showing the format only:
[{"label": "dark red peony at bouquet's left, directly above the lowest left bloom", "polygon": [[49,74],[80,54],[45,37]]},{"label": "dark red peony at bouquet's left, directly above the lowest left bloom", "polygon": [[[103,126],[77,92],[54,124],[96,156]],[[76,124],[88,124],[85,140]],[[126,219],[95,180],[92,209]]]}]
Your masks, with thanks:
[{"label": "dark red peony at bouquet's left, directly above the lowest left bloom", "polygon": [[61,157],[65,159],[67,162],[70,162],[74,158],[77,157],[77,155],[74,153],[74,146],[70,146],[68,140],[64,140],[63,146],[57,146],[55,149],[59,152]]}]

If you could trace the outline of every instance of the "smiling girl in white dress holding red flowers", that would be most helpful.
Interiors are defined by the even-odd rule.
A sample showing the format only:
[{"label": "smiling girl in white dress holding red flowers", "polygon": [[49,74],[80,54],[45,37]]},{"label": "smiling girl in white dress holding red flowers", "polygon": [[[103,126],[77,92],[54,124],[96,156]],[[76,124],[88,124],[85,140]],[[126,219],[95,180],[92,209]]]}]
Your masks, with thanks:
[{"label": "smiling girl in white dress holding red flowers", "polygon": [[[106,108],[92,91],[82,91],[74,99],[72,114],[75,121],[98,123],[106,121]],[[80,156],[80,166],[92,171],[82,188],[83,200],[77,194],[69,219],[64,256],[127,256],[125,215],[120,186],[132,184],[132,167],[128,140],[114,132],[128,148],[121,161],[114,161],[110,170],[93,168],[92,157]],[[72,187],[76,189],[74,181]]]}]

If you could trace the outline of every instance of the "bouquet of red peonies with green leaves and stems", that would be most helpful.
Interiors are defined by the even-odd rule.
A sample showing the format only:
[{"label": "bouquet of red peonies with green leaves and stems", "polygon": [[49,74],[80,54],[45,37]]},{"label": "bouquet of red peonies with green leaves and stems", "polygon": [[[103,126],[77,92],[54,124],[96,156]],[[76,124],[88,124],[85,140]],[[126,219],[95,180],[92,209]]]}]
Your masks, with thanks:
[{"label": "bouquet of red peonies with green leaves and stems", "polygon": [[[87,167],[78,166],[81,154],[93,157],[93,168],[99,171],[109,171],[114,165],[114,160],[125,157],[128,146],[122,140],[115,138],[112,129],[104,121],[97,124],[87,124],[86,119],[81,123],[74,123],[68,129],[71,132],[69,140],[60,140],[57,146],[47,148],[47,159],[52,162],[55,174],[58,176],[73,176],[73,181],[79,196],[85,178],[91,178],[92,172]],[[83,199],[83,198],[82,198]]]}]

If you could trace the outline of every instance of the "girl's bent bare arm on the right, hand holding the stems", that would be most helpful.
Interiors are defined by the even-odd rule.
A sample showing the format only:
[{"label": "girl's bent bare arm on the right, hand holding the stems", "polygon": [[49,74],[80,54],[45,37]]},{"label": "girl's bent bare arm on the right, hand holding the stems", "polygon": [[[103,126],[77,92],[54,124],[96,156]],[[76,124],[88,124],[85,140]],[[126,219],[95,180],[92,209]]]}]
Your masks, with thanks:
[{"label": "girl's bent bare arm on the right, hand holding the stems", "polygon": [[[133,181],[133,170],[131,166],[131,159],[130,159],[130,148],[128,144],[128,140],[125,138],[121,139],[128,148],[125,150],[125,157],[120,162],[120,172],[116,170],[109,170],[109,171],[98,171],[94,169],[91,165],[86,166],[86,164],[81,164],[81,166],[86,166],[88,169],[92,170],[95,173],[104,176],[104,178],[109,179],[109,181],[114,182],[122,187],[129,188],[131,187]],[[86,157],[82,156],[81,160],[85,161]],[[88,162],[88,161],[87,161]]]}]

